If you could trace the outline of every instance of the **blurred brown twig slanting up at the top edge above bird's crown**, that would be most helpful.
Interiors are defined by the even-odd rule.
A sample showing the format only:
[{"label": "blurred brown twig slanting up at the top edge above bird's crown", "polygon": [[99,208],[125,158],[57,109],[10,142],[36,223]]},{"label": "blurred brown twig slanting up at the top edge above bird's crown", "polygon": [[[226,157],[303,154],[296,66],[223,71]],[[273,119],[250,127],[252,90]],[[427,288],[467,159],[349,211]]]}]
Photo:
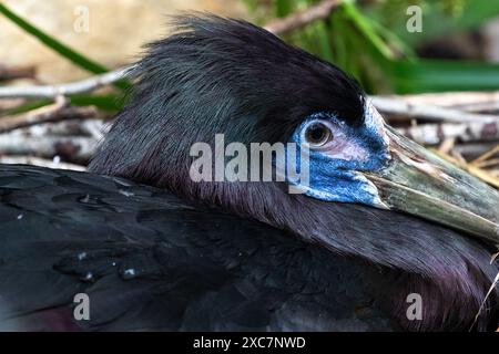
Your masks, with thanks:
[{"label": "blurred brown twig slanting up at the top edge above bird's crown", "polygon": [[326,19],[340,4],[340,0],[320,1],[316,6],[292,13],[286,18],[275,20],[265,25],[265,29],[274,34],[284,34],[317,20]]}]

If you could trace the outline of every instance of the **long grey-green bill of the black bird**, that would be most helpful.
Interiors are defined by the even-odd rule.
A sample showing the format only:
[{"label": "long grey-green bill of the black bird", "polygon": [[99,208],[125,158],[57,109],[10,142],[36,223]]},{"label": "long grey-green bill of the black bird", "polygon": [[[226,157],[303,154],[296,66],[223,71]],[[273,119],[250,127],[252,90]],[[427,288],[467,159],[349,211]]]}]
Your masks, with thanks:
[{"label": "long grey-green bill of the black bird", "polygon": [[381,200],[405,211],[499,243],[499,192],[386,126],[390,163],[365,176]]}]

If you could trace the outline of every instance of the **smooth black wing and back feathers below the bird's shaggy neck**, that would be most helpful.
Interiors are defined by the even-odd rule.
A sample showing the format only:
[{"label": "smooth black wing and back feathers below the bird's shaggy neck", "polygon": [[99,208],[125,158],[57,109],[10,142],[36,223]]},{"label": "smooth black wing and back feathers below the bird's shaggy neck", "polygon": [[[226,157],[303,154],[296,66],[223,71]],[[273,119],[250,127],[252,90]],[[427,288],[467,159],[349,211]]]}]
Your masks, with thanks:
[{"label": "smooth black wing and back feathers below the bird's shaggy neck", "polygon": [[120,178],[0,173],[0,330],[396,329],[363,261]]}]

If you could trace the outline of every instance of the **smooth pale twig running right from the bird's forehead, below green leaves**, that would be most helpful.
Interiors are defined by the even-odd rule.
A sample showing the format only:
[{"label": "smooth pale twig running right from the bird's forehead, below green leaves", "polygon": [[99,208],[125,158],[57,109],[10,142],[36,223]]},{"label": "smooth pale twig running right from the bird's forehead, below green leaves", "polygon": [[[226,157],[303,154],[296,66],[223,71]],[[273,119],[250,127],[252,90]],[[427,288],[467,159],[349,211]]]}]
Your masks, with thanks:
[{"label": "smooth pale twig running right from the bird's forehead, below green leaves", "polygon": [[499,123],[499,116],[496,115],[466,113],[452,108],[413,104],[398,97],[374,96],[371,102],[384,114],[399,115],[407,118],[424,118],[448,123]]}]

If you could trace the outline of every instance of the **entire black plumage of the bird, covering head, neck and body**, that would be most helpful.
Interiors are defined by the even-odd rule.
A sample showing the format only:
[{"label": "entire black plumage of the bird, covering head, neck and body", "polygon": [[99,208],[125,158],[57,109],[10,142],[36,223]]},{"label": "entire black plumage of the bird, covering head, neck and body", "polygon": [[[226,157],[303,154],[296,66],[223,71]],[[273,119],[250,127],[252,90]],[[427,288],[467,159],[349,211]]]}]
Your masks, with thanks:
[{"label": "entire black plumage of the bird, covering head, neck and body", "polygon": [[[282,183],[189,178],[195,142],[221,132],[226,143],[286,142],[318,111],[359,126],[365,97],[337,67],[248,23],[187,17],[177,28],[133,69],[130,103],[90,165],[163,191],[1,167],[0,326],[471,327],[498,271],[490,244],[403,214],[289,195]],[[92,301],[88,322],[72,317],[78,292]],[[413,292],[422,321],[406,317]],[[497,316],[492,293],[475,327],[492,329]]]}]

